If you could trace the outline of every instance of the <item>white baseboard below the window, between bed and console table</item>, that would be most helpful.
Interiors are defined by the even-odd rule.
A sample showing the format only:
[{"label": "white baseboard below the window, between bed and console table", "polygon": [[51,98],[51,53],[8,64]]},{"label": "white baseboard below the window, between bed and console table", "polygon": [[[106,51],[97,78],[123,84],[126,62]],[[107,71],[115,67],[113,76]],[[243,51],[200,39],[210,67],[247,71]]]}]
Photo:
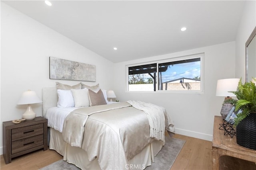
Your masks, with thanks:
[{"label": "white baseboard below the window, between bed and console table", "polygon": [[205,134],[205,133],[199,133],[199,132],[195,132],[195,131],[188,131],[188,130],[179,129],[179,128],[175,128],[175,132],[177,134],[180,134],[180,135],[195,137],[195,138],[203,139],[203,140],[206,140],[206,141],[212,141],[212,135]]}]

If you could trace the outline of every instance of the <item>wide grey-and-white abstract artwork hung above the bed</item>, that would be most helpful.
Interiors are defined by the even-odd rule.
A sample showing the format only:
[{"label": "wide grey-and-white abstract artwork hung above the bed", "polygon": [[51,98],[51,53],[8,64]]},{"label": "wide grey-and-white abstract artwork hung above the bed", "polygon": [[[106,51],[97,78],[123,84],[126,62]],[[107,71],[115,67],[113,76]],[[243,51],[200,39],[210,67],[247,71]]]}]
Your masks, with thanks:
[{"label": "wide grey-and-white abstract artwork hung above the bed", "polygon": [[96,82],[96,66],[49,57],[50,79]]}]

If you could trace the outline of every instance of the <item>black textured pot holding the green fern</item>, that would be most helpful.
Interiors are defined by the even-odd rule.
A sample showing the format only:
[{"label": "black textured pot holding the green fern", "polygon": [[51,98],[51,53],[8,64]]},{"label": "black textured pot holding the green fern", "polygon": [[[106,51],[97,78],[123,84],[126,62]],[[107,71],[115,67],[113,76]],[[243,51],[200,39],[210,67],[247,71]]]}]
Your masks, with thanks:
[{"label": "black textured pot holding the green fern", "polygon": [[236,126],[236,143],[256,150],[256,113],[250,113]]}]

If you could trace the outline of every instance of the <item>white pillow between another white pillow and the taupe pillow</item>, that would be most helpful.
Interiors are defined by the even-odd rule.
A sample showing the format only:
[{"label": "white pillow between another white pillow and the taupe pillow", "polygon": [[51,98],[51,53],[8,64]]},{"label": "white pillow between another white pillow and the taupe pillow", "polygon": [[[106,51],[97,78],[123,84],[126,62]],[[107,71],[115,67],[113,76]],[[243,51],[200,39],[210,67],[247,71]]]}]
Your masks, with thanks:
[{"label": "white pillow between another white pillow and the taupe pillow", "polygon": [[88,96],[88,89],[71,89],[75,107],[90,106],[90,100]]}]

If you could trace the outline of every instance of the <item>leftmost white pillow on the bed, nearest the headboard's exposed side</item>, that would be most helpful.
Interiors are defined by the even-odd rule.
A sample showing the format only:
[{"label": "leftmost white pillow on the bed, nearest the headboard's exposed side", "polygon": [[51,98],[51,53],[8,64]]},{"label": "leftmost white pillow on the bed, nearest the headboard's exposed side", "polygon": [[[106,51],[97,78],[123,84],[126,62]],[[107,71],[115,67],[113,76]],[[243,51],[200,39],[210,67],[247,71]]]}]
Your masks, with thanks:
[{"label": "leftmost white pillow on the bed, nearest the headboard's exposed side", "polygon": [[71,90],[57,90],[58,103],[57,107],[75,107],[74,98]]}]

